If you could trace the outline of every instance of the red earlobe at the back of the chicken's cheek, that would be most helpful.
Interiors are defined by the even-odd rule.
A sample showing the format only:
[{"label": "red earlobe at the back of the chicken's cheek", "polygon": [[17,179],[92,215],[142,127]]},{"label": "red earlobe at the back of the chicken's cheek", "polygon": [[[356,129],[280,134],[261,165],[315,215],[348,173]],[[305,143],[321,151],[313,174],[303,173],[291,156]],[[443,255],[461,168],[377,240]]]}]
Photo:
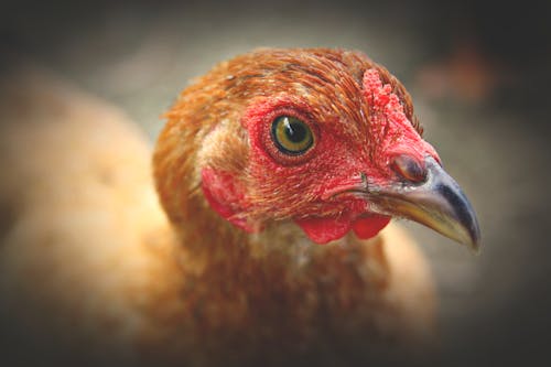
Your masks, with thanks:
[{"label": "red earlobe at the back of the chicken's cheek", "polygon": [[255,227],[240,215],[245,212],[245,195],[229,172],[204,168],[201,187],[210,207],[233,225],[253,233]]}]

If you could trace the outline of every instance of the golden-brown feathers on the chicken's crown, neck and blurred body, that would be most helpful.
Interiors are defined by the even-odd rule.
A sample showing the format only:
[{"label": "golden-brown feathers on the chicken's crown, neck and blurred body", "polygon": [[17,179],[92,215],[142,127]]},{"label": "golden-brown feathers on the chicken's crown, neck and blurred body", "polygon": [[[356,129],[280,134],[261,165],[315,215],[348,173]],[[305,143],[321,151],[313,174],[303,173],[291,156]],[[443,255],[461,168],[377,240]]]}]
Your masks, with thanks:
[{"label": "golden-brown feathers on the chicken's crown, neck and blurred body", "polygon": [[[11,211],[0,259],[3,314],[68,360],[119,365],[342,364],[429,343],[430,271],[398,226],[369,241],[350,235],[325,247],[289,220],[248,235],[197,190],[202,160],[230,172],[246,166],[238,123],[212,136],[242,114],[229,94],[277,94],[278,80],[306,73],[296,93],[334,84],[325,112],[334,114],[335,102],[350,118],[358,114],[346,110],[347,99],[372,62],[354,52],[310,53],[257,51],[182,93],[153,158],[169,220],[154,198],[151,151],[131,121],[42,73],[13,73],[0,108],[11,121],[0,139],[9,179],[1,203]],[[244,67],[246,61],[257,66]],[[411,117],[404,89],[381,73]],[[231,156],[222,156],[228,147]]]}]

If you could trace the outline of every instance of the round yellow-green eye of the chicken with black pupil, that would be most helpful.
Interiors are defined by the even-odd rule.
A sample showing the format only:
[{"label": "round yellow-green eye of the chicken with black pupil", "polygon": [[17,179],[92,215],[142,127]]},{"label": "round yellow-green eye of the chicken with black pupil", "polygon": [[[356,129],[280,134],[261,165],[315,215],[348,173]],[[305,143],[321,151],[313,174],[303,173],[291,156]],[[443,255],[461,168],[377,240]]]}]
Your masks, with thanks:
[{"label": "round yellow-green eye of the chicken with black pupil", "polygon": [[289,155],[303,154],[314,143],[314,134],[310,127],[291,116],[280,116],[273,120],[271,138],[276,147]]}]

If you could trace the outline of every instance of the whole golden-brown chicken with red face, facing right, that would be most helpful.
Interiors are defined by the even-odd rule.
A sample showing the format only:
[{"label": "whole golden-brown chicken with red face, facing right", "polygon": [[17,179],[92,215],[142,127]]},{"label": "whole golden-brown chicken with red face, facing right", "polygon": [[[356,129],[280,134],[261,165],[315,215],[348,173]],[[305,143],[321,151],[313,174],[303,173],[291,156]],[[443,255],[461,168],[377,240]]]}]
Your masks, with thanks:
[{"label": "whole golden-brown chicken with red face, facing right", "polygon": [[56,361],[184,366],[431,348],[429,267],[389,220],[475,249],[479,230],[382,66],[325,48],[224,62],[165,115],[153,174],[125,116],[31,74],[4,84],[0,108],[14,121],[0,154],[13,344]]}]

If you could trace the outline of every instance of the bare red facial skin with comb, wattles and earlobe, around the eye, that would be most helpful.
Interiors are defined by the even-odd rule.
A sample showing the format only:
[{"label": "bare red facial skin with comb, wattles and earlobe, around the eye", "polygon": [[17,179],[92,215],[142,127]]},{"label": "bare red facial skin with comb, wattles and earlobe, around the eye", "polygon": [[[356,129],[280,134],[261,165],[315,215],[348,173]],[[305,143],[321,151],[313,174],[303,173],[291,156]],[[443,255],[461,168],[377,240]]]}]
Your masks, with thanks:
[{"label": "bare red facial skin with comb, wattles and earlobe, around the eye", "polygon": [[[204,168],[202,186],[210,206],[247,231],[260,230],[260,217],[269,213],[276,220],[292,218],[317,244],[342,238],[349,230],[363,239],[376,236],[390,217],[371,213],[369,203],[354,192],[366,190],[366,179],[378,187],[399,183],[391,169],[397,155],[407,154],[421,168],[426,155],[439,158],[377,69],[365,72],[363,94],[368,106],[365,121],[317,116],[298,96],[282,94],[253,102],[241,120],[250,144],[248,182]],[[296,117],[311,128],[314,144],[304,154],[288,155],[272,141],[271,123],[279,116]],[[363,123],[370,138],[358,137],[361,129],[352,134],[350,123]],[[258,213],[263,215],[257,217]]]}]

